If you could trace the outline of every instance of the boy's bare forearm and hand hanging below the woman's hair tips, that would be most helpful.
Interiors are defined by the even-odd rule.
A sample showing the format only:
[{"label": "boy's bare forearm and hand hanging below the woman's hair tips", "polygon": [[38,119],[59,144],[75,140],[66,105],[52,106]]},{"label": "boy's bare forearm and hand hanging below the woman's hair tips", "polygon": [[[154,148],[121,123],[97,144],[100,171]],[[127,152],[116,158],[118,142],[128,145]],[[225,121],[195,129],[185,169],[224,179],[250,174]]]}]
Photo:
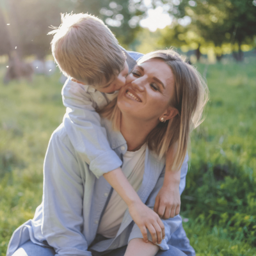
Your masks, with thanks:
[{"label": "boy's bare forearm and hand hanging below the woman's hair tips", "polygon": [[175,149],[167,153],[163,187],[154,205],[154,211],[163,219],[173,218],[180,212],[180,170],[172,170],[175,153]]}]

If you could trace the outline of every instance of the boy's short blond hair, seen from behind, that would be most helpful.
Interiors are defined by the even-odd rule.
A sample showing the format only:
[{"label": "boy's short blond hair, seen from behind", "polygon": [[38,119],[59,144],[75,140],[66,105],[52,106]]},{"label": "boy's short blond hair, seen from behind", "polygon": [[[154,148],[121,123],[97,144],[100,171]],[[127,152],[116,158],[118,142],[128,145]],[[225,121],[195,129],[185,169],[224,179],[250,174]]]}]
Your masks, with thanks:
[{"label": "boy's short blond hair, seen from behind", "polygon": [[61,14],[61,25],[51,34],[52,55],[65,76],[100,86],[109,83],[124,67],[126,57],[118,41],[93,15]]}]

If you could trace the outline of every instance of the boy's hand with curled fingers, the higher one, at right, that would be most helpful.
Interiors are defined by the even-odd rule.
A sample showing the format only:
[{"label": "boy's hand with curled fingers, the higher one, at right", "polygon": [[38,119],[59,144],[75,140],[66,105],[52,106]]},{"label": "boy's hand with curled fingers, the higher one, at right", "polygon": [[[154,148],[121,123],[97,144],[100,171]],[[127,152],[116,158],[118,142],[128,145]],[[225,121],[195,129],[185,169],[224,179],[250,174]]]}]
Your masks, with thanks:
[{"label": "boy's hand with curled fingers, the higher one, at right", "polygon": [[180,212],[179,184],[163,186],[156,196],[154,211],[164,220],[173,218]]}]

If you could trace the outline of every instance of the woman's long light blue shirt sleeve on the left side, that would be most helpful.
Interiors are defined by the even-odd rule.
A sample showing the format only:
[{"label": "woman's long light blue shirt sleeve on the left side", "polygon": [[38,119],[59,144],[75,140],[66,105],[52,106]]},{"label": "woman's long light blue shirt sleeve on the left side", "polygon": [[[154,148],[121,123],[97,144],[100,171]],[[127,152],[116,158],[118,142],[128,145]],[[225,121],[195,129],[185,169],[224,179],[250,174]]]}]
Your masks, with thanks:
[{"label": "woman's long light blue shirt sleeve on the left side", "polygon": [[[67,136],[66,136],[67,137]],[[83,230],[83,181],[74,148],[56,133],[44,162],[42,234],[56,256],[92,256]]]}]

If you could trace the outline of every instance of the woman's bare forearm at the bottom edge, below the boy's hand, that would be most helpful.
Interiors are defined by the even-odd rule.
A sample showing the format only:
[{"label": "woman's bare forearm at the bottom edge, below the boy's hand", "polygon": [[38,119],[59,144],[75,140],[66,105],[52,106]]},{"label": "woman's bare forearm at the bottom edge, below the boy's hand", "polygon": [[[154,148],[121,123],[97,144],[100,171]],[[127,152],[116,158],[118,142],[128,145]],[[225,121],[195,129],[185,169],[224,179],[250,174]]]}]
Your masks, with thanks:
[{"label": "woman's bare forearm at the bottom edge, below the boy's hand", "polygon": [[132,239],[125,251],[124,256],[155,256],[159,246],[151,242],[145,243],[141,238]]}]

